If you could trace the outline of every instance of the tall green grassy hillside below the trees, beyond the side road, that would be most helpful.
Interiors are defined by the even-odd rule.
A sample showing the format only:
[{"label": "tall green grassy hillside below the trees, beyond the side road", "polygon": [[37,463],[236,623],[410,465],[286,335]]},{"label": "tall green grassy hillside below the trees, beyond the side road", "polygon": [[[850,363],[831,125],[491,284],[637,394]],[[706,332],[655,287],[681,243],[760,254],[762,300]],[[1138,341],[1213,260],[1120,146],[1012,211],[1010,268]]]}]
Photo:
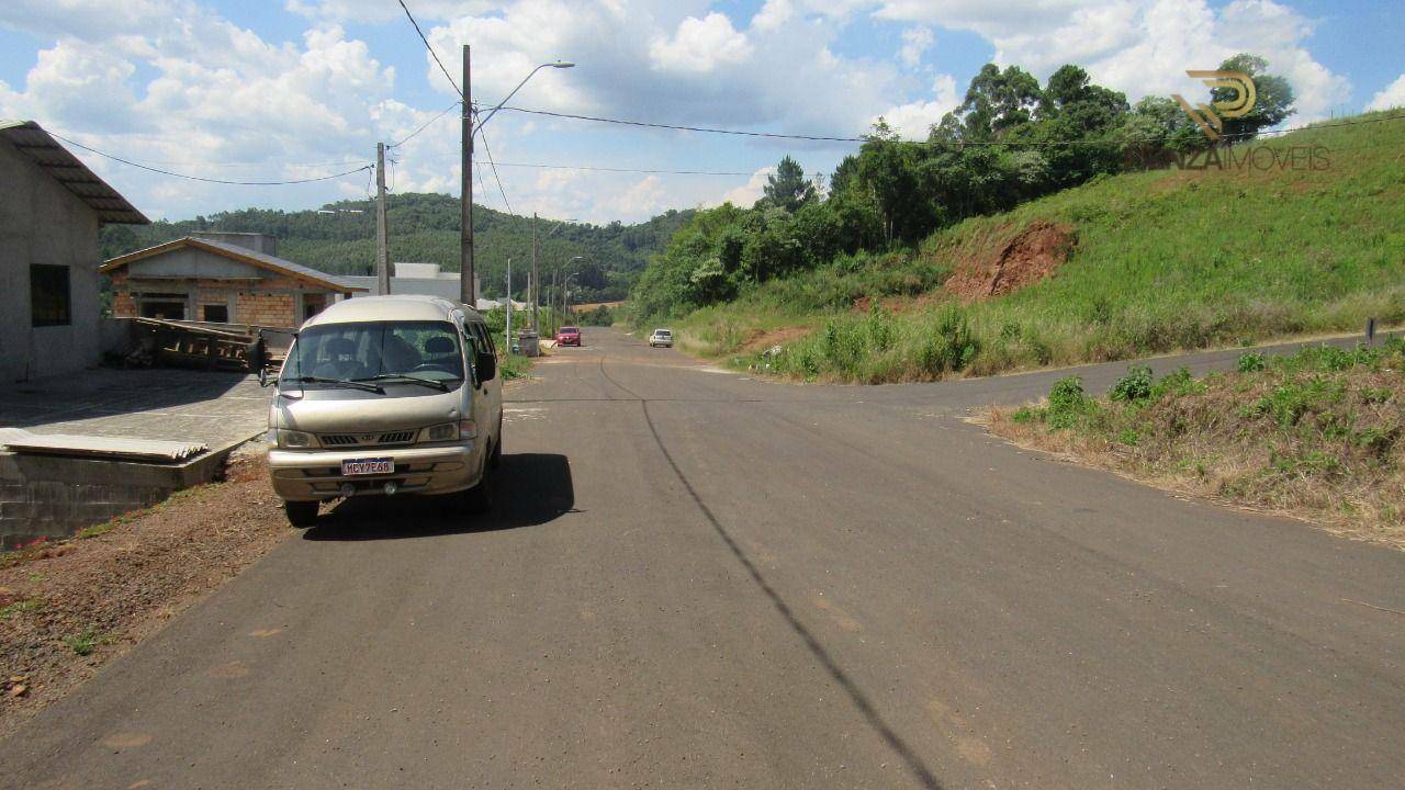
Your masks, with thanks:
[{"label": "tall green grassy hillside below the trees, beyond the side road", "polygon": [[[1347,121],[1231,149],[1263,146],[1279,162],[1297,152],[1298,167],[1100,177],[913,250],[840,256],[674,323],[694,350],[738,364],[870,382],[1349,332],[1368,316],[1399,323],[1405,118]],[[953,292],[1031,229],[1062,239],[1052,276],[976,301]]]}]

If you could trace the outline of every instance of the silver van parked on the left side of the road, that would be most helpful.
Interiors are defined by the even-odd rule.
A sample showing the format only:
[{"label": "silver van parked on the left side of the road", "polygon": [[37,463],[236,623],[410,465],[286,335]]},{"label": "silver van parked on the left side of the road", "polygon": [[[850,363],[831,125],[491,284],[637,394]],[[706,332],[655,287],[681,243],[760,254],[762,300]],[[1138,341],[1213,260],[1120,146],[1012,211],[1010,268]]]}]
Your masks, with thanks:
[{"label": "silver van parked on the left side of the road", "polygon": [[503,388],[483,318],[433,297],[367,297],[308,319],[268,408],[268,471],[288,520],[346,496],[466,492],[503,451]]}]

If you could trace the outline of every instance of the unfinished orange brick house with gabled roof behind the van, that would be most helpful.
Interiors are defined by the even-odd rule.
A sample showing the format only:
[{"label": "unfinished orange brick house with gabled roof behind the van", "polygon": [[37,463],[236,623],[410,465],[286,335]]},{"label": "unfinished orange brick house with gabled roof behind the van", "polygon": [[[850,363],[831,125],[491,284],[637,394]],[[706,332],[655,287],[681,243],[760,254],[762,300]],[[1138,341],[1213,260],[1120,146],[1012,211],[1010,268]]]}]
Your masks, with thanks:
[{"label": "unfinished orange brick house with gabled roof behind the van", "polygon": [[364,291],[277,257],[263,233],[192,233],[114,257],[112,315],[296,328],[332,302]]}]

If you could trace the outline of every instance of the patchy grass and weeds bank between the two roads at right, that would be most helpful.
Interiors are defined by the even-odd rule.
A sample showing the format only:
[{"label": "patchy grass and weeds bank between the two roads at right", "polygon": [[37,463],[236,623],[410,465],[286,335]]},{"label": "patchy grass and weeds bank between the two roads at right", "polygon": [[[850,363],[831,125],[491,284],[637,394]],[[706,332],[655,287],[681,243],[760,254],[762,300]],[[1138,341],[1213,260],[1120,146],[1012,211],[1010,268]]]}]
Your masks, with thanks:
[{"label": "patchy grass and weeds bank between the two roads at right", "polygon": [[1405,544],[1405,342],[1155,380],[1132,364],[1106,396],[1076,377],[1048,401],[995,410],[996,433],[1137,477]]}]

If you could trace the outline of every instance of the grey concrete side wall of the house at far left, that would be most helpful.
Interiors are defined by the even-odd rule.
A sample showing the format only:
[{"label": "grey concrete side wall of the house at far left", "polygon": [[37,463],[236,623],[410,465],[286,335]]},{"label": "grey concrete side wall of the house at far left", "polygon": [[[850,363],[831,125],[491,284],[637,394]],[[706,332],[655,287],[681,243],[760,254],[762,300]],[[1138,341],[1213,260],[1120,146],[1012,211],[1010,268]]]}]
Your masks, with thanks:
[{"label": "grey concrete side wall of the house at far left", "polygon": [[[4,141],[0,184],[0,385],[96,365],[97,214]],[[35,263],[69,267],[69,326],[32,326]]]}]

